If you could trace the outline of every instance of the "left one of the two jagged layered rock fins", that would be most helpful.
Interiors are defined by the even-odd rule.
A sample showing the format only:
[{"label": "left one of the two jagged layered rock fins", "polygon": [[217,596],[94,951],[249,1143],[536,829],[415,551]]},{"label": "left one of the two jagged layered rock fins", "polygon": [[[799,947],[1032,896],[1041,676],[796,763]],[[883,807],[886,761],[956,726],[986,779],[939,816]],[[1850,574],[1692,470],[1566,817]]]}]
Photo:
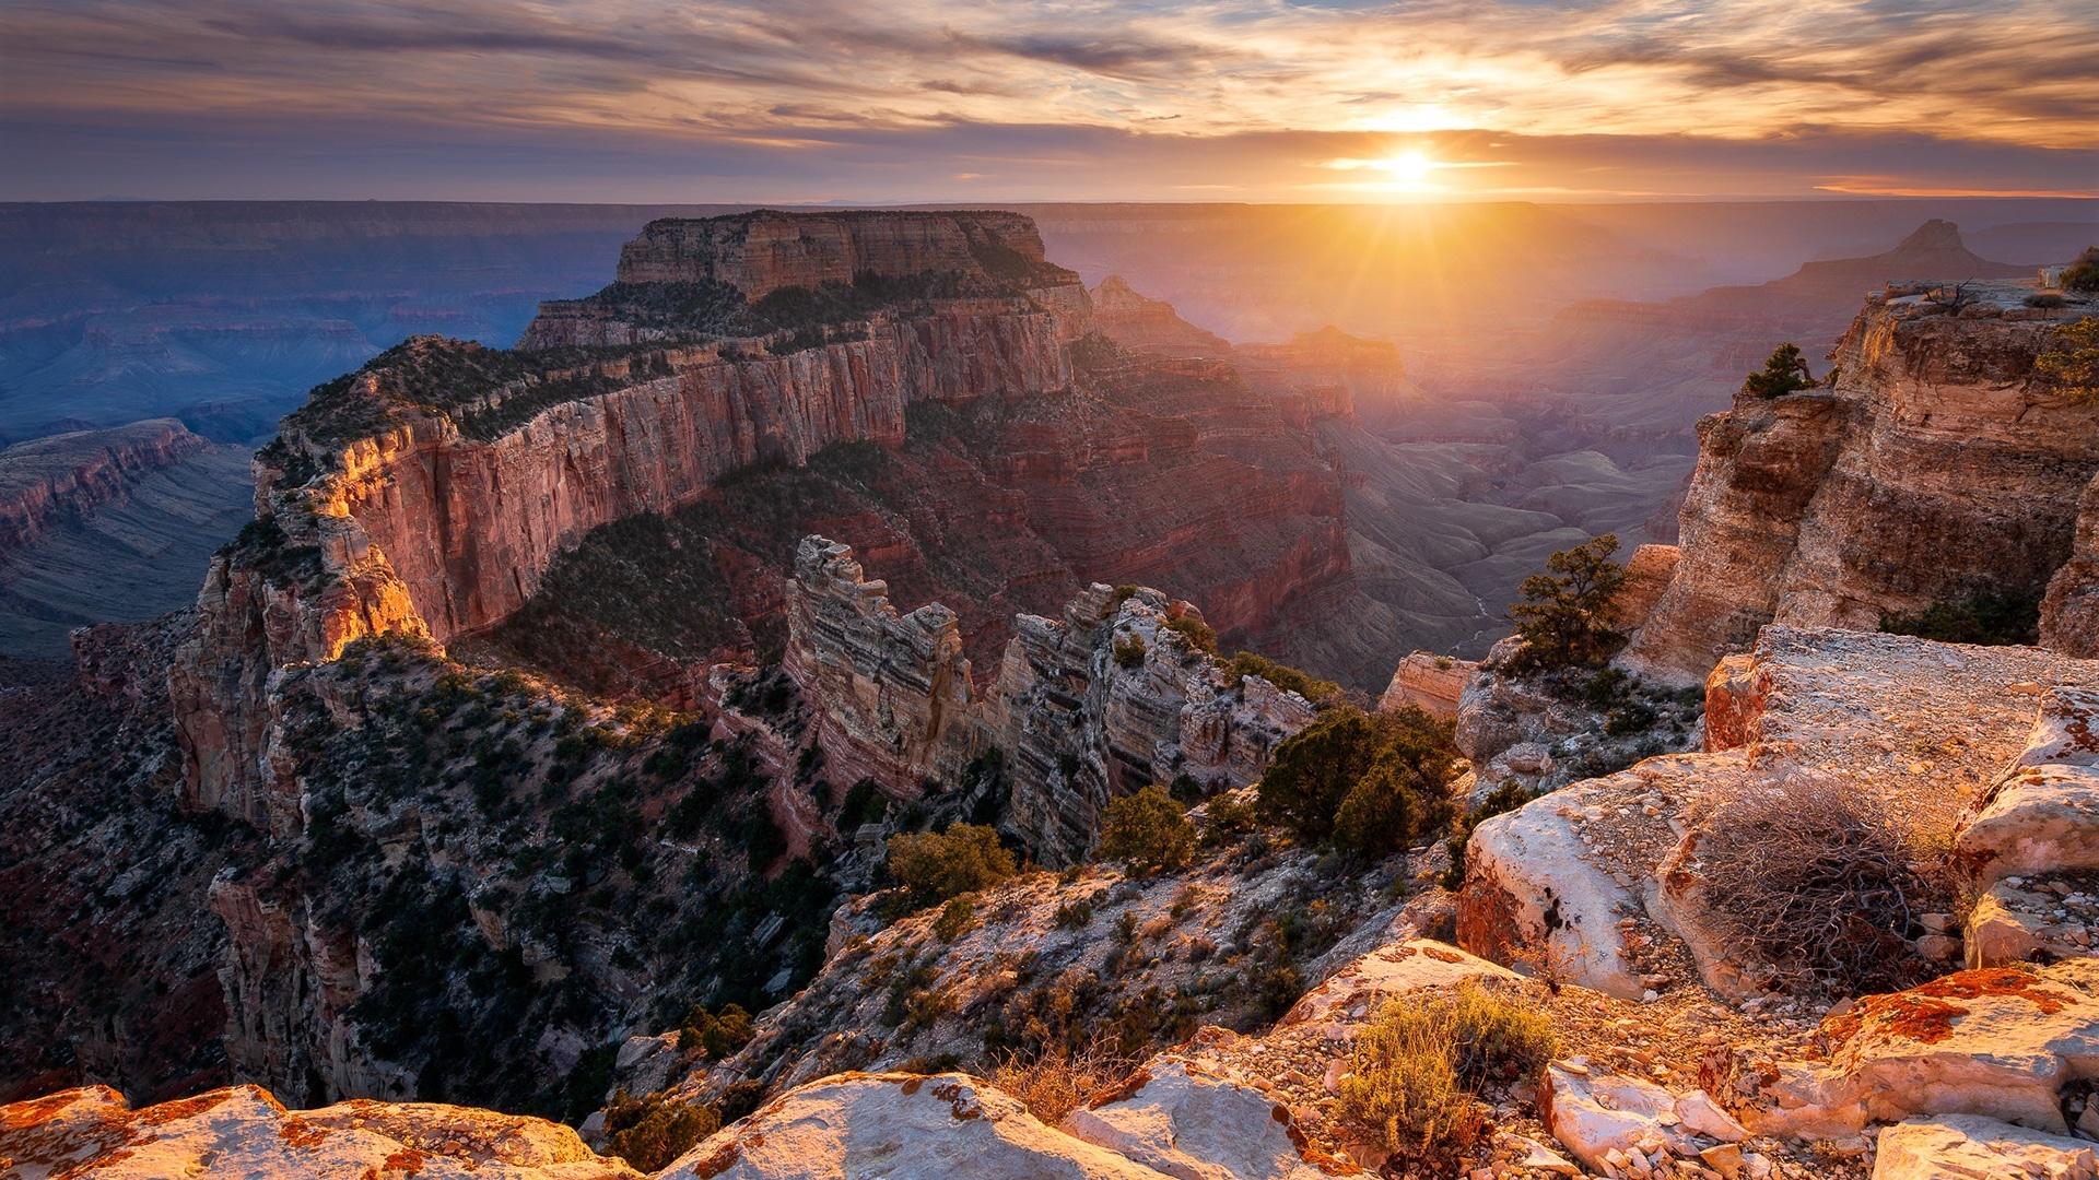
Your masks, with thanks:
[{"label": "left one of the two jagged layered rock fins", "polygon": [[817,701],[833,781],[873,779],[917,798],[926,781],[961,781],[980,726],[955,613],[928,603],[898,615],[886,592],[863,580],[850,548],[802,538],[787,582],[787,674]]}]

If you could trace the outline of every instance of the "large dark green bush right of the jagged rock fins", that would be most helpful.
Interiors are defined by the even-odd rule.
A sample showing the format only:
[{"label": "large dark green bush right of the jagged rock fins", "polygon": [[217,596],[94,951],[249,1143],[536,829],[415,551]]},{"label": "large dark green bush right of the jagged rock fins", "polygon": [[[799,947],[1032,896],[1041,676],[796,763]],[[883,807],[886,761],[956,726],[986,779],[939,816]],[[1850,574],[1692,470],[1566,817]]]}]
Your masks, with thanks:
[{"label": "large dark green bush right of the jagged rock fins", "polygon": [[[1390,850],[1442,823],[1442,792],[1457,760],[1450,733],[1448,722],[1417,708],[1375,716],[1333,710],[1276,747],[1261,777],[1259,815],[1306,840]],[[1343,806],[1345,831],[1337,827]]]}]

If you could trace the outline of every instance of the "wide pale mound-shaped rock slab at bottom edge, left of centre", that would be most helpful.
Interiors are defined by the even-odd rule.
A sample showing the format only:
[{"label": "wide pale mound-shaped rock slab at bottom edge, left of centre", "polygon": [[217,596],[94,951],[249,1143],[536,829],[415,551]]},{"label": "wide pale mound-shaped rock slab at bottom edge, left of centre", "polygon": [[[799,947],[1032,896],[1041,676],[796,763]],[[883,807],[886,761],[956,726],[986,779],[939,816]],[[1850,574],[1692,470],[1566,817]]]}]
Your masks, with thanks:
[{"label": "wide pale mound-shaped rock slab at bottom edge, left of centre", "polygon": [[[1161,1180],[963,1073],[842,1073],[716,1132],[657,1180]],[[1209,1180],[1209,1178],[1205,1178]]]}]

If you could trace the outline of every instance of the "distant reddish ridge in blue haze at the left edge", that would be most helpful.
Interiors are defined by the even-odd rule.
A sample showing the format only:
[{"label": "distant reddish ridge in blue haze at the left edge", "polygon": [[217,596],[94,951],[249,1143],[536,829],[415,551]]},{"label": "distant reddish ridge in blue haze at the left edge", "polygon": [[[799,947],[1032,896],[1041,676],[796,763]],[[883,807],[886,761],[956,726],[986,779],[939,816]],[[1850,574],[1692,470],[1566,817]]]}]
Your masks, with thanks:
[{"label": "distant reddish ridge in blue haze at the left edge", "polygon": [[122,500],[145,472],[212,449],[174,418],[78,430],[0,449],[0,554],[73,514]]}]

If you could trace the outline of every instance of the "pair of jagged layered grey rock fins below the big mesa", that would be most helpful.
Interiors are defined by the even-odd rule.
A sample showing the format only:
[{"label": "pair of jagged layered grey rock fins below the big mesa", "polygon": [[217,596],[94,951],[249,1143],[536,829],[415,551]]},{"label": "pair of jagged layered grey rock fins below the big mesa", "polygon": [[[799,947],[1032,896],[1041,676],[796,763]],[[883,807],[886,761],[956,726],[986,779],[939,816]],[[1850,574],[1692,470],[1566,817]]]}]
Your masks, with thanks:
[{"label": "pair of jagged layered grey rock fins below the big mesa", "polygon": [[1297,693],[1232,674],[1175,630],[1203,621],[1190,603],[1102,584],[1058,619],[1018,615],[974,699],[953,611],[932,603],[898,615],[886,592],[848,546],[802,542],[787,668],[814,708],[831,781],[871,779],[909,800],[959,785],[978,754],[999,747],[1001,823],[1037,857],[1085,852],[1100,808],[1148,783],[1259,779],[1314,716]]}]

